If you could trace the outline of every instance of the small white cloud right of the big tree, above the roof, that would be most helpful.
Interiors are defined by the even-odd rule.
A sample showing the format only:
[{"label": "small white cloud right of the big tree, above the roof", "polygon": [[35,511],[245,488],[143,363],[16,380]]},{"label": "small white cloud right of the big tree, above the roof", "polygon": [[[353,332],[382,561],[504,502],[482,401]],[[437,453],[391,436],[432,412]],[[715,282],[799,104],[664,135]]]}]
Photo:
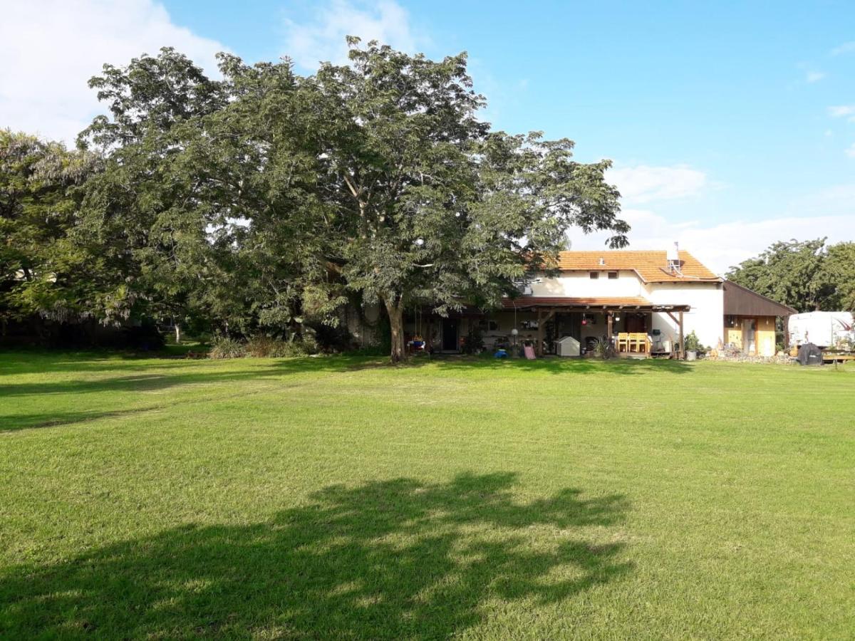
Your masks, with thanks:
[{"label": "small white cloud right of the big tree, above the roof", "polygon": [[606,179],[617,186],[623,203],[628,204],[691,197],[707,185],[704,172],[683,165],[610,169]]}]

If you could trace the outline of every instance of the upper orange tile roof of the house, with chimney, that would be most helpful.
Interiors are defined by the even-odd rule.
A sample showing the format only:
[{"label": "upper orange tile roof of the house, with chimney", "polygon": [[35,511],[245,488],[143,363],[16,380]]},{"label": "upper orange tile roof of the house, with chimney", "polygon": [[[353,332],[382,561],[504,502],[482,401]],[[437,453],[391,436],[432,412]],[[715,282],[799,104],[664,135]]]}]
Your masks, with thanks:
[{"label": "upper orange tile roof of the house, with chimney", "polygon": [[[604,260],[602,265],[600,258]],[[666,251],[562,251],[558,256],[557,267],[565,271],[586,272],[628,269],[637,273],[646,283],[721,280],[687,251],[680,252],[680,263],[680,273],[671,272]]]}]

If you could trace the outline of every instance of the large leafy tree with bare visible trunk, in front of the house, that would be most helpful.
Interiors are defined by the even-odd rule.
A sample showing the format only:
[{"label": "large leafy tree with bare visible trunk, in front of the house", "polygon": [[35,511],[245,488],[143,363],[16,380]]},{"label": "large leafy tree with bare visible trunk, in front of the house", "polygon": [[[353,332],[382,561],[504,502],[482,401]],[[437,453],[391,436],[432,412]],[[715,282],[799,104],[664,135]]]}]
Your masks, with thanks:
[{"label": "large leafy tree with bare visible trunk, in front of the house", "polygon": [[348,38],[349,65],[323,64],[302,92],[321,201],[336,215],[332,262],[389,315],[404,358],[404,310],[496,306],[549,269],[570,226],[626,244],[607,161],[573,159],[567,139],[491,132],[466,55],[435,62]]}]

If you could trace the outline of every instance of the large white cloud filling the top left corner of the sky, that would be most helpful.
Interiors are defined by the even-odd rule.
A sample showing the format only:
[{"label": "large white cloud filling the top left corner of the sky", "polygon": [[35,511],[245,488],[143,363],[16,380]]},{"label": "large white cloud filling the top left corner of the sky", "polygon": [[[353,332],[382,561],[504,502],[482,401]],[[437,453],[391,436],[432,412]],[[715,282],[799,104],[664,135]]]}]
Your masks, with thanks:
[{"label": "large white cloud filling the top left corner of the sky", "polygon": [[152,0],[27,0],[3,3],[0,126],[74,140],[99,109],[86,86],[103,63],[123,65],[164,46],[209,73],[222,44],[171,21]]}]

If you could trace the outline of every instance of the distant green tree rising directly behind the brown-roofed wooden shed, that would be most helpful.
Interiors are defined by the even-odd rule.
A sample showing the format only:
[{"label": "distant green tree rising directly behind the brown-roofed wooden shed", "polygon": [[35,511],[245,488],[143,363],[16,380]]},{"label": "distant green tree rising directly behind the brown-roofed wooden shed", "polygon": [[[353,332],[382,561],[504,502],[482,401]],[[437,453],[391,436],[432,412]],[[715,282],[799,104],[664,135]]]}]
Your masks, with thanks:
[{"label": "distant green tree rising directly behind the brown-roofed wooden shed", "polygon": [[774,243],[727,278],[800,312],[827,309],[834,287],[823,269],[824,247],[825,238]]}]

